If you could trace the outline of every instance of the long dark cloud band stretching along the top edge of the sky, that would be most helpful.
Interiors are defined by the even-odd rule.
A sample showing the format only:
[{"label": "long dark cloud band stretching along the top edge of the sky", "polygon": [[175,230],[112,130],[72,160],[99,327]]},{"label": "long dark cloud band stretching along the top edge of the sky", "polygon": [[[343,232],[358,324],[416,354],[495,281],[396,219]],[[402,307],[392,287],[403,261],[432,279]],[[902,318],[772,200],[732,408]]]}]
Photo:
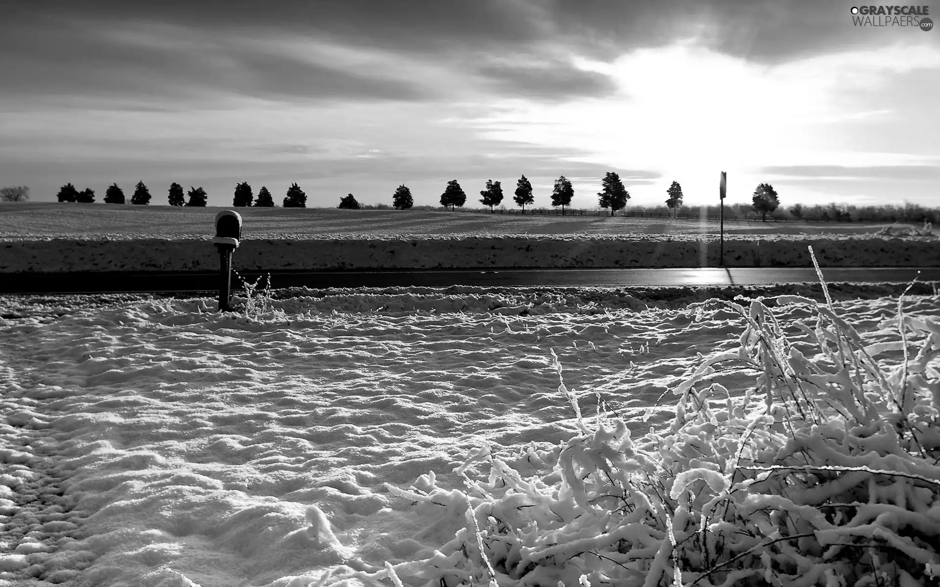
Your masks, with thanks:
[{"label": "long dark cloud band stretching along the top edge of the sky", "polygon": [[[327,34],[339,44],[438,54],[488,47],[499,54],[551,42],[612,58],[637,47],[696,37],[715,51],[779,62],[872,42],[853,26],[851,5],[818,0],[269,0],[263,7],[248,0],[18,4],[23,6],[9,10],[11,22],[37,14],[99,22],[160,21],[246,36],[270,30]],[[900,39],[911,32],[898,29],[886,35]]]}]

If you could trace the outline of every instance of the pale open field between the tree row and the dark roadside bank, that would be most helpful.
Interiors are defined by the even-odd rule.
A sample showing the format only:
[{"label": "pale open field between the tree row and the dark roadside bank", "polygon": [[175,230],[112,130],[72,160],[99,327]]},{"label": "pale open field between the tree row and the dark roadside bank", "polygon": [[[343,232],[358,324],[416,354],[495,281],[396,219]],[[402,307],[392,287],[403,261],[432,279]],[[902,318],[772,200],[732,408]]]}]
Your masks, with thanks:
[{"label": "pale open field between the tree row and the dark roadside bank", "polygon": [[[215,214],[227,208],[173,208],[51,202],[0,204],[0,239],[147,238],[198,239],[210,235]],[[400,235],[669,235],[717,237],[709,221],[622,216],[540,216],[481,214],[467,210],[237,209],[245,239]],[[883,224],[725,223],[735,235],[861,235]]]}]

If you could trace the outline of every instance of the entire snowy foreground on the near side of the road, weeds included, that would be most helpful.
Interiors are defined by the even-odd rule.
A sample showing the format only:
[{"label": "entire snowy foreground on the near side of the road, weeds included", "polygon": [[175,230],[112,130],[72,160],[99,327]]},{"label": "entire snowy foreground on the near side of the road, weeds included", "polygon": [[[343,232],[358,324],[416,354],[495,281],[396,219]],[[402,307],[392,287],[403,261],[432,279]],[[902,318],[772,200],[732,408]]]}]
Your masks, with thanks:
[{"label": "entire snowy foreground on the near side of the road, weeds included", "polygon": [[[831,286],[835,322],[693,288],[0,298],[0,585],[936,584],[940,298],[903,299],[901,373],[902,289]],[[764,405],[794,374],[818,425]],[[920,453],[877,424],[901,381]],[[791,438],[854,472],[747,471]]]}]

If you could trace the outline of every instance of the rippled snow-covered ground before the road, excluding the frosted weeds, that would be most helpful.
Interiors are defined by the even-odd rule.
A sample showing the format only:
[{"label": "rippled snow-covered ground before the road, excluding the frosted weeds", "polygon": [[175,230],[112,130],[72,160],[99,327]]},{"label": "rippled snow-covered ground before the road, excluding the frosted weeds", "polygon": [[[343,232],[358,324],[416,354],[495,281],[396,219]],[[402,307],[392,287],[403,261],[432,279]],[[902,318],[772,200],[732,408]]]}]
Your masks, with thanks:
[{"label": "rippled snow-covered ground before the road, excluding the frosted weeds", "polygon": [[[897,298],[871,298],[900,291],[854,287],[841,290],[838,315],[866,344],[899,340]],[[822,300],[818,286],[766,293]],[[568,392],[588,429],[600,425],[600,409],[638,438],[676,418],[668,395],[643,420],[704,357],[744,344],[744,318],[727,308],[662,307],[700,297],[691,289],[662,303],[653,290],[609,288],[299,289],[251,317],[220,315],[205,298],[2,298],[0,585],[453,587],[439,569],[478,553],[466,538],[466,500],[488,541],[498,533],[487,516],[504,516],[480,501],[506,485],[493,477],[487,485],[482,461],[498,458],[521,475],[513,483],[547,491],[568,479],[553,468],[584,430]],[[935,295],[908,298],[904,313],[937,317],[937,304]],[[793,340],[796,323],[815,316],[805,304],[775,313]],[[891,349],[879,352],[897,363],[901,352]],[[709,378],[740,398],[759,375],[736,366]],[[468,489],[455,469],[484,445],[466,470],[481,485]],[[907,499],[930,507],[929,493]],[[940,528],[940,500],[932,507],[920,515]],[[541,548],[552,535],[572,548],[585,541],[566,528]],[[668,548],[659,551],[668,559]],[[561,552],[574,555],[570,566],[583,555]],[[604,563],[591,560],[584,565]],[[584,577],[604,584],[597,573]]]}]

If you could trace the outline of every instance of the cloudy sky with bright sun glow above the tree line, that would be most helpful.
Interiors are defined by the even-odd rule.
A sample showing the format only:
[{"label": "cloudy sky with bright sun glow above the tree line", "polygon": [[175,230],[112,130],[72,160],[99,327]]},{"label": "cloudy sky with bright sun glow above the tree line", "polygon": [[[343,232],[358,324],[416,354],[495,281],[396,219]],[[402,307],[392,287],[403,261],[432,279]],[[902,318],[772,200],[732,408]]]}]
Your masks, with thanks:
[{"label": "cloudy sky with bright sun glow above the tree line", "polygon": [[[851,0],[31,0],[5,6],[0,184],[55,201],[171,182],[230,206],[291,182],[308,207],[439,205],[450,179],[508,208],[559,176],[593,209],[940,206],[940,31],[855,25]],[[259,8],[263,7],[263,8]],[[928,15],[940,17],[926,5]],[[882,21],[884,22],[884,17]],[[876,17],[877,22],[877,17]]]}]

